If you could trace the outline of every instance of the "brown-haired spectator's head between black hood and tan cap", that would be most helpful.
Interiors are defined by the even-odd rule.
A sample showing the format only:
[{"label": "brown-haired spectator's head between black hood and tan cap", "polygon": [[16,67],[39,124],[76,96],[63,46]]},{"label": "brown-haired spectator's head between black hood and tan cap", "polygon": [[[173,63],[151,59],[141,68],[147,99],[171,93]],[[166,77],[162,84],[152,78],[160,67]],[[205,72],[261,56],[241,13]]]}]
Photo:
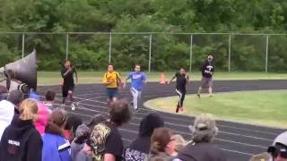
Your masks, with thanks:
[{"label": "brown-haired spectator's head between black hood and tan cap", "polygon": [[169,156],[172,156],[175,152],[175,144],[172,135],[172,131],[168,128],[154,129],[151,138],[151,152],[153,154],[165,152]]}]

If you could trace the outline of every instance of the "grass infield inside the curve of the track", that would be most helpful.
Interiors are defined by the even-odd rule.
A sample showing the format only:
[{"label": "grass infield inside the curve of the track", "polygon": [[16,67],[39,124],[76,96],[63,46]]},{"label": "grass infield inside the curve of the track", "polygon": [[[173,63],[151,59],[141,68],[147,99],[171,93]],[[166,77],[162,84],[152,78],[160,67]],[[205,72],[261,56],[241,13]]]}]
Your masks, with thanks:
[{"label": "grass infield inside the curve of the track", "polygon": [[[215,97],[188,95],[181,114],[214,114],[217,119],[287,128],[287,90],[217,93]],[[145,102],[152,109],[175,113],[178,97]]]}]

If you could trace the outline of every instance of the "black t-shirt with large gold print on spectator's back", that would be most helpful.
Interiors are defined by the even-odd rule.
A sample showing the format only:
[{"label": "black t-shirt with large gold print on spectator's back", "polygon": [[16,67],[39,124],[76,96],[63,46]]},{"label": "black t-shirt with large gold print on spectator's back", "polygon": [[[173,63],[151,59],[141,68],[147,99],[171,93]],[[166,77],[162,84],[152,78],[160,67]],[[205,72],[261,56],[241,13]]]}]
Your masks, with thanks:
[{"label": "black t-shirt with large gold print on spectator's back", "polygon": [[121,161],[124,145],[117,126],[110,122],[97,124],[91,132],[91,148],[95,160],[102,160],[105,154],[112,154],[116,161]]}]

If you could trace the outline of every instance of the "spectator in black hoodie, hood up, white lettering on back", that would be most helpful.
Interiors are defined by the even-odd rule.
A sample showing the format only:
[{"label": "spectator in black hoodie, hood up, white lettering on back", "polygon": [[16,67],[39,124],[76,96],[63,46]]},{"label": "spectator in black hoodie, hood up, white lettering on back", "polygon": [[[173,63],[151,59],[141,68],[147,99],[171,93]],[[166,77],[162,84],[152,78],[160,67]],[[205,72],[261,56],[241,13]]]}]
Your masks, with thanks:
[{"label": "spectator in black hoodie, hood up, white lettering on back", "polygon": [[126,161],[143,161],[148,157],[151,148],[152,132],[156,128],[163,127],[164,123],[160,114],[146,115],[140,123],[139,136],[125,150]]}]

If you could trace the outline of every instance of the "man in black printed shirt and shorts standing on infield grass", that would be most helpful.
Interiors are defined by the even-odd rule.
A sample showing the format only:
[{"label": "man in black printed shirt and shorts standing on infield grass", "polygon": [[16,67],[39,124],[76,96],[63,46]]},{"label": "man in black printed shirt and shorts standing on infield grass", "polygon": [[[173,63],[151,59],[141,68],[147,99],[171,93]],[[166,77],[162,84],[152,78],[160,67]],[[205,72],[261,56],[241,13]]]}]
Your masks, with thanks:
[{"label": "man in black printed shirt and shorts standing on infield grass", "polygon": [[204,64],[200,68],[202,72],[201,86],[198,88],[197,97],[200,97],[202,88],[208,88],[209,97],[213,97],[213,56],[208,55]]}]

